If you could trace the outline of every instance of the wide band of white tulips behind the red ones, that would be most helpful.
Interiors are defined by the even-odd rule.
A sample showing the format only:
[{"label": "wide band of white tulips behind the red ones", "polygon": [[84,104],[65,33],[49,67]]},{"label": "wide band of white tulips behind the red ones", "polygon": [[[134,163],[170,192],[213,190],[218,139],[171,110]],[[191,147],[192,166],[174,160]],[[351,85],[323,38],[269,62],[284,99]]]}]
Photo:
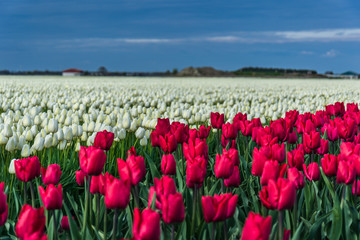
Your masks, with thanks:
[{"label": "wide band of white tulips behind the red ones", "polygon": [[133,132],[141,145],[157,118],[209,124],[210,113],[236,113],[262,122],[359,102],[357,81],[245,78],[0,77],[0,145],[7,151],[93,144],[107,130],[115,141]]}]

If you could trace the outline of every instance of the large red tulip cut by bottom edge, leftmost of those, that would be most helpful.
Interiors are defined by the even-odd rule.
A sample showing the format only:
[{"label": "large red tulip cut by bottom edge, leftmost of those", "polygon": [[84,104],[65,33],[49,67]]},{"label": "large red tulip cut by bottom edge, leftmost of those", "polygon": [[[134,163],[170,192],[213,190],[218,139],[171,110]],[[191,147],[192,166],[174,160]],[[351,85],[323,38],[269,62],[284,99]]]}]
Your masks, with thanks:
[{"label": "large red tulip cut by bottom edge, leftmost of those", "polygon": [[43,232],[45,228],[44,208],[32,208],[30,205],[23,205],[20,211],[19,220],[15,226],[16,236],[24,239],[37,232]]}]

